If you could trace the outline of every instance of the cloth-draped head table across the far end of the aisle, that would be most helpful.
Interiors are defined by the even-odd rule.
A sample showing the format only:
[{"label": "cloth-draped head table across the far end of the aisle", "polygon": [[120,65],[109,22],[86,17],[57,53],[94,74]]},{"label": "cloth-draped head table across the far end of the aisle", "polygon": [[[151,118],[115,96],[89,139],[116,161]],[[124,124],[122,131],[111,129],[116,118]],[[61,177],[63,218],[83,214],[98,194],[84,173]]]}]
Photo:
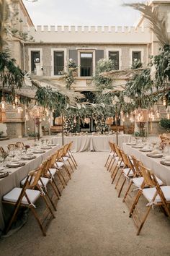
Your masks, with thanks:
[{"label": "cloth-draped head table across the far end of the aisle", "polygon": [[[118,135],[118,145],[122,148],[123,142],[130,141],[130,135]],[[62,146],[62,137],[52,137],[53,143]],[[109,141],[116,143],[116,135],[84,135],[64,137],[64,144],[73,141],[72,151],[109,151]]]}]

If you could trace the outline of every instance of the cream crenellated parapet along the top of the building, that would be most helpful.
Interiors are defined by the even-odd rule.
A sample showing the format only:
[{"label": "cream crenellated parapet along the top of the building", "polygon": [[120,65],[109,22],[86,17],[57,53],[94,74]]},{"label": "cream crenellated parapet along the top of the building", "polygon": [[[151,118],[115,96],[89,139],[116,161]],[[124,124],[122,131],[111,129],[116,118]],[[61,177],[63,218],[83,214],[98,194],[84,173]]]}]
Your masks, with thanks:
[{"label": "cream crenellated parapet along the top of the building", "polygon": [[44,43],[150,43],[148,27],[37,26],[24,32]]}]

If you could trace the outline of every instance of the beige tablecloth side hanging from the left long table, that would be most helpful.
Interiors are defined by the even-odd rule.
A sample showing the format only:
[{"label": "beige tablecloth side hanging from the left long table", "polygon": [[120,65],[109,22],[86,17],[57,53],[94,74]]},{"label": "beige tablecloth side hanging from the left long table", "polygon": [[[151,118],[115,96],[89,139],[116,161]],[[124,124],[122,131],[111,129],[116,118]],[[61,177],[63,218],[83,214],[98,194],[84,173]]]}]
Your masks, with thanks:
[{"label": "beige tablecloth side hanging from the left long table", "polygon": [[[52,155],[55,150],[58,149],[58,145],[55,147],[45,150],[45,153],[36,154],[36,158],[30,161],[23,161],[25,165],[19,168],[9,168],[6,171],[9,171],[9,176],[6,176],[3,179],[0,179],[0,197],[2,199],[3,195],[12,190],[14,187],[20,187],[19,183],[25,176],[29,173],[29,171],[34,170],[42,161],[48,158],[48,156]],[[8,212],[3,207],[0,200],[0,230],[4,230],[5,220],[8,218]]]}]

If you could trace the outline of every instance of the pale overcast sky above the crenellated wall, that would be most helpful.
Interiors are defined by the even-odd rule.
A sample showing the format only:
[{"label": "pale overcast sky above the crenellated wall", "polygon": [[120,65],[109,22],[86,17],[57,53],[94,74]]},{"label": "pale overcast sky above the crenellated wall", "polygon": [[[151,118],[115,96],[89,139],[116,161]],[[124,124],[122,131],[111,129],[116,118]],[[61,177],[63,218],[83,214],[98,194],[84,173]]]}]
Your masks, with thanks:
[{"label": "pale overcast sky above the crenellated wall", "polygon": [[122,4],[145,0],[29,1],[23,0],[34,25],[133,26],[140,14],[130,7],[122,7]]}]

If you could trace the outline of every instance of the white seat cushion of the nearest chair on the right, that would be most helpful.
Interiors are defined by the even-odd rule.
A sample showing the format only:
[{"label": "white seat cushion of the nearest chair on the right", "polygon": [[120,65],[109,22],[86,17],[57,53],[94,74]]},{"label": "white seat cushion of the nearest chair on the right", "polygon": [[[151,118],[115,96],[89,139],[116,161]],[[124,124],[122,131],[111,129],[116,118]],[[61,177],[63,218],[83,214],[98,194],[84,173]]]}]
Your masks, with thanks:
[{"label": "white seat cushion of the nearest chair on the right", "polygon": [[[164,197],[167,201],[170,201],[170,186],[162,186],[161,187],[162,192],[164,193]],[[143,196],[146,197],[148,202],[152,202],[153,196],[155,195],[156,188],[151,187],[147,189],[143,189]],[[155,202],[161,202],[161,197],[159,195],[156,196]]]}]

